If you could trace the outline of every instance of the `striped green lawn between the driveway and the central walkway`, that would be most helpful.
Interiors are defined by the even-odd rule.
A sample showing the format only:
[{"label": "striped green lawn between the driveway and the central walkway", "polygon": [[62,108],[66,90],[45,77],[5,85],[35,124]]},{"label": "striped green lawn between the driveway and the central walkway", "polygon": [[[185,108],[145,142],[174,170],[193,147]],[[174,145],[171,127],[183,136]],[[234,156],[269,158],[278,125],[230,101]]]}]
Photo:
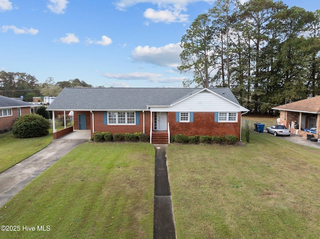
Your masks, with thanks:
[{"label": "striped green lawn between the driveway and the central walkway", "polygon": [[0,238],[150,239],[153,190],[151,144],[85,143],[0,208],[0,225],[20,226]]}]

